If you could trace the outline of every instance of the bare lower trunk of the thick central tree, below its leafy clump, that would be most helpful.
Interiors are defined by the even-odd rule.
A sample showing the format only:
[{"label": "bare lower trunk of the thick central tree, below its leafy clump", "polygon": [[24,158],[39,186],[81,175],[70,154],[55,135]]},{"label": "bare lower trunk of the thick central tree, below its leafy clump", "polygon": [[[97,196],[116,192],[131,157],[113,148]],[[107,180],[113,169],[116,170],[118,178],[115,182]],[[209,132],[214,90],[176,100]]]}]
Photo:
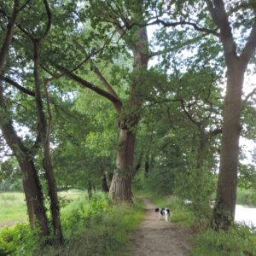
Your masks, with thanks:
[{"label": "bare lower trunk of the thick central tree, below its leafy clump", "polygon": [[131,180],[135,140],[135,133],[120,129],[116,170],[109,189],[109,194],[114,201],[132,202]]}]

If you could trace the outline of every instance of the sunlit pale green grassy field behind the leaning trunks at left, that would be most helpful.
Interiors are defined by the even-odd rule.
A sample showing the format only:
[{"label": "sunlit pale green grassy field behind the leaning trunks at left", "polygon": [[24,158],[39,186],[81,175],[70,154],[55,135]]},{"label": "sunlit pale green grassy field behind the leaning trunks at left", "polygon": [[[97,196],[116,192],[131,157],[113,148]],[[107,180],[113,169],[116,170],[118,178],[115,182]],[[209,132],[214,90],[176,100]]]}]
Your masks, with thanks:
[{"label": "sunlit pale green grassy field behind the leaning trunks at left", "polygon": [[[58,193],[62,202],[73,201],[83,193],[79,190],[61,191]],[[26,222],[26,201],[22,192],[0,192],[0,229],[5,225]]]}]

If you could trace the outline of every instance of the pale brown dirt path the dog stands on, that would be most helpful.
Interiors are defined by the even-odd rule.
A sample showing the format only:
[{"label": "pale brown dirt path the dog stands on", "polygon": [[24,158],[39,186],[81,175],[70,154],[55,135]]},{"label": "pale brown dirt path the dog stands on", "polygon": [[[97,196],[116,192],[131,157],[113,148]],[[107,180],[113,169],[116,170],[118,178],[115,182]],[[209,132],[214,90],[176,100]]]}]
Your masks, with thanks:
[{"label": "pale brown dirt path the dog stands on", "polygon": [[177,224],[158,219],[154,206],[143,199],[145,215],[139,230],[131,238],[131,256],[182,256],[189,252],[189,232],[181,230]]}]

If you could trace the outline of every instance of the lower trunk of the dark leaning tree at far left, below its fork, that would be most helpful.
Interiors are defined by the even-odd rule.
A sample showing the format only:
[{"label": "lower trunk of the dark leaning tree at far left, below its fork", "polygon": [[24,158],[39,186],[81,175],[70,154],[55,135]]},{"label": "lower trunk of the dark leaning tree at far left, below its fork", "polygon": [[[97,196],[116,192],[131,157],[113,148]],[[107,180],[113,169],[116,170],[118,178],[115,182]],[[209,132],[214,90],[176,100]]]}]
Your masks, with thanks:
[{"label": "lower trunk of the dark leaning tree at far left, below its fork", "polygon": [[23,188],[30,224],[34,228],[38,221],[42,235],[49,236],[44,197],[34,163],[32,160],[19,160],[19,164],[23,173]]}]

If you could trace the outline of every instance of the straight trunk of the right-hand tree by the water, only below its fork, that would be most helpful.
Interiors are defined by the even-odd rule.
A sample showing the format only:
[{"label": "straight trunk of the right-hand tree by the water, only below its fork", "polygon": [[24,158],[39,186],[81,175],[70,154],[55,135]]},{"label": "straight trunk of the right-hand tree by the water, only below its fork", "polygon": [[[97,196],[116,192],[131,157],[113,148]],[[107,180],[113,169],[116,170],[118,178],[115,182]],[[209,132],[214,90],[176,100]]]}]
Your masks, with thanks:
[{"label": "straight trunk of the right-hand tree by the water, only below its fork", "polygon": [[242,84],[243,72],[239,65],[236,65],[228,72],[224,101],[222,151],[218,174],[217,200],[212,221],[212,227],[216,230],[227,230],[235,217]]}]

